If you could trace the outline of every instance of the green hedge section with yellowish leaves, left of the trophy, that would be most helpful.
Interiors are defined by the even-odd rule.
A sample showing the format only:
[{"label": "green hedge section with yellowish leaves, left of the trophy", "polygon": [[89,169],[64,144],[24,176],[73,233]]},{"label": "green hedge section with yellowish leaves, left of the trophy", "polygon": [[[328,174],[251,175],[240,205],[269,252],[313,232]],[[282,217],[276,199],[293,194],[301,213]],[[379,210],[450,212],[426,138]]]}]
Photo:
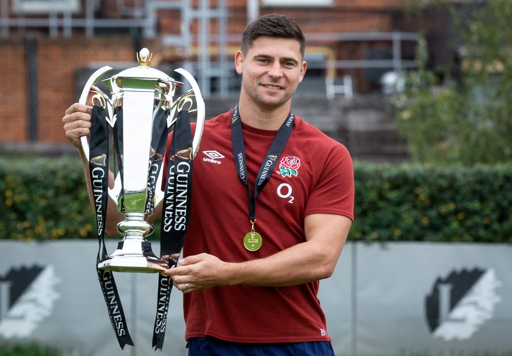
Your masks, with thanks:
[{"label": "green hedge section with yellowish leaves, left of the trophy", "polygon": [[79,159],[0,160],[0,238],[92,238],[95,224]]}]

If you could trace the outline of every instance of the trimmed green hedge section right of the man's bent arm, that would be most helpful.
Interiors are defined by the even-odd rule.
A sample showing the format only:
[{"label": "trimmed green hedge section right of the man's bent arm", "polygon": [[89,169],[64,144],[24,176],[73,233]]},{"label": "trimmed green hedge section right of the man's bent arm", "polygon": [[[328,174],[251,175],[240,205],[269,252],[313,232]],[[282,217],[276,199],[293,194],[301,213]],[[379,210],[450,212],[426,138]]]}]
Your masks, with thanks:
[{"label": "trimmed green hedge section right of the man's bent arm", "polygon": [[512,164],[355,167],[351,239],[512,242]]}]

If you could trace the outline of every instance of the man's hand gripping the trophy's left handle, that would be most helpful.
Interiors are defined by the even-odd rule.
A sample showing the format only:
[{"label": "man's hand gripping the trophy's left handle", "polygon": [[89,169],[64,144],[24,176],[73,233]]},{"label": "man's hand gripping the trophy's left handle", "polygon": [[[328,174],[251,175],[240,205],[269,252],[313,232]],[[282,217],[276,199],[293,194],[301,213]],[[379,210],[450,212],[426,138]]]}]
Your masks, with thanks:
[{"label": "man's hand gripping the trophy's left handle", "polygon": [[89,136],[91,132],[91,113],[91,108],[75,102],[62,117],[64,133],[76,148],[81,147],[80,137]]}]

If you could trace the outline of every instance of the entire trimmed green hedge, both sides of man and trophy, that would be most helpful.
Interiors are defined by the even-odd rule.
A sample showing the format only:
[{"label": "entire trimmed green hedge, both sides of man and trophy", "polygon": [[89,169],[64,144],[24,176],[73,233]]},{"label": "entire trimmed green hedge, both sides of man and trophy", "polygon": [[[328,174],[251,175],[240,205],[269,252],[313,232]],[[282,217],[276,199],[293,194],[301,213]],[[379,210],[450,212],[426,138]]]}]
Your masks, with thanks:
[{"label": "entire trimmed green hedge, both sides of man and trophy", "polygon": [[[356,162],[354,175],[350,240],[512,242],[512,164]],[[0,238],[96,238],[78,159],[0,159],[0,197]]]}]

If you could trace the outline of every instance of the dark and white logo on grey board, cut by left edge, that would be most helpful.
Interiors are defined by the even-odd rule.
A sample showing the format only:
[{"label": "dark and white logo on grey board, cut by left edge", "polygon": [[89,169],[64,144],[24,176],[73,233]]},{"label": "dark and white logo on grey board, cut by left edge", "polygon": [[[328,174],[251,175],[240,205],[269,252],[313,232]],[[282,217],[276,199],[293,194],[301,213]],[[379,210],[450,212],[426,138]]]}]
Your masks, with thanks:
[{"label": "dark and white logo on grey board, cut by left edge", "polygon": [[11,268],[0,276],[0,336],[30,336],[51,315],[60,282],[51,265]]}]

